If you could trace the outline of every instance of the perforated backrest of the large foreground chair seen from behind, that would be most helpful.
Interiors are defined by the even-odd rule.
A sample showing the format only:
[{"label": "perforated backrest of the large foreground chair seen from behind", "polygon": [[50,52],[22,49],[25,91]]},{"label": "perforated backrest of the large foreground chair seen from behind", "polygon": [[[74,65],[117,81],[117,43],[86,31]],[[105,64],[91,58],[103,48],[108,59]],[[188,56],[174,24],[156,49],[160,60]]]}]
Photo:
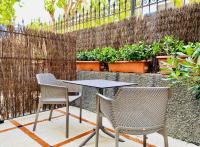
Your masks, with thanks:
[{"label": "perforated backrest of the large foreground chair seen from behind", "polygon": [[151,128],[165,125],[168,87],[121,88],[112,102],[113,125]]}]

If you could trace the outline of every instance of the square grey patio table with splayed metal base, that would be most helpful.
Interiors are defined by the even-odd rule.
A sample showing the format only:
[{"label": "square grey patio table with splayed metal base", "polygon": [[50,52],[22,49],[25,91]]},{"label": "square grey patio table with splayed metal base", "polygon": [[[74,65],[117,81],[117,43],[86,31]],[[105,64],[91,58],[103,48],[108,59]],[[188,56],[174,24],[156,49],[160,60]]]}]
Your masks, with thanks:
[{"label": "square grey patio table with splayed metal base", "polygon": [[[104,82],[115,82],[116,83],[116,85],[109,85],[109,86],[95,86],[95,85],[89,85],[88,83],[87,84],[83,84],[83,82],[84,81],[91,81],[91,82],[98,82],[98,81],[104,81]],[[79,81],[64,81],[63,80],[63,82],[66,82],[66,83],[70,83],[70,84],[77,84],[77,85],[82,85],[82,86],[87,86],[87,87],[93,87],[93,88],[96,88],[97,89],[97,91],[98,91],[98,93],[100,93],[100,94],[102,94],[103,95],[103,89],[106,89],[106,88],[116,88],[116,87],[124,87],[124,86],[131,86],[131,85],[137,85],[136,83],[126,83],[126,82],[118,82],[118,81],[110,81],[110,80],[101,80],[101,79],[99,79],[99,80],[79,80]],[[121,84],[119,84],[119,85],[117,85],[117,83],[121,83]],[[97,83],[98,84],[98,83]],[[104,132],[105,134],[107,134],[108,136],[110,136],[110,137],[112,137],[112,138],[115,138],[115,135],[113,135],[112,133],[110,133],[110,132],[108,132],[106,129],[105,129],[105,127],[103,126],[103,124],[102,124],[102,116],[100,116],[100,118],[99,118],[99,125],[100,125],[100,127],[99,127],[99,129],[102,131],[102,132]],[[90,134],[90,136],[88,136],[87,138],[86,138],[86,140],[85,141],[83,141],[80,145],[79,145],[79,147],[82,147],[82,146],[84,146],[90,139],[92,139],[92,137],[94,136],[96,134],[96,128],[94,128],[94,132],[92,132],[92,134]],[[119,138],[119,141],[121,141],[121,142],[124,142],[124,140],[122,140],[122,139],[120,139]]]}]

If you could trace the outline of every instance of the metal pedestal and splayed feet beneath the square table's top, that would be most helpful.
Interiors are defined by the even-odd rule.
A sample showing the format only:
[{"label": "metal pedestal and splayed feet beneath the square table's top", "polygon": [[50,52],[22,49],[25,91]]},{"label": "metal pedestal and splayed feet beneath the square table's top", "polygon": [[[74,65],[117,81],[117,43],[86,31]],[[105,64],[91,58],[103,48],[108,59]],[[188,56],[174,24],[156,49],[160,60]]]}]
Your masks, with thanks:
[{"label": "metal pedestal and splayed feet beneath the square table's top", "polygon": [[[98,92],[99,92],[100,94],[103,94],[103,89],[98,89]],[[110,133],[110,132],[108,132],[108,131],[105,129],[105,127],[103,126],[103,124],[102,124],[102,117],[101,117],[101,116],[100,116],[100,118],[99,118],[99,129],[102,130],[102,132],[104,132],[104,133],[107,134],[108,136],[110,136],[110,137],[112,137],[112,138],[115,138],[115,135],[112,134],[112,133]],[[90,136],[88,136],[88,138],[86,138],[86,140],[83,141],[83,142],[79,145],[79,147],[84,146],[90,139],[92,139],[92,137],[93,137],[95,134],[96,134],[96,128],[94,128],[94,132],[93,132],[92,134],[90,134]],[[119,138],[119,141],[120,141],[120,142],[125,142],[123,139],[120,139],[120,138]]]}]

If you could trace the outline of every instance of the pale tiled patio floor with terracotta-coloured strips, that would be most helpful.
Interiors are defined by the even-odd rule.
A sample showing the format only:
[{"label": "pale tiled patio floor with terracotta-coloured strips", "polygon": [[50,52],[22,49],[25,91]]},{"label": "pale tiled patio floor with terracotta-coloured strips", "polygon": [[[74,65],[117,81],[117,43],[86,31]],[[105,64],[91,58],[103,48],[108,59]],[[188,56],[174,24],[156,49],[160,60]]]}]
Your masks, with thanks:
[{"label": "pale tiled patio floor with terracotta-coloured strips", "polygon": [[[65,138],[65,108],[57,109],[53,112],[53,119],[48,121],[49,112],[40,113],[37,130],[32,131],[35,115],[19,117],[14,120],[5,121],[0,125],[0,147],[37,147],[37,146],[65,146],[78,147],[87,138],[95,127],[95,113],[83,110],[83,122],[80,124],[79,109],[70,107],[70,130],[69,138]],[[112,130],[108,120],[103,119],[103,124]],[[122,135],[125,142],[120,143],[120,147],[142,147],[142,136]],[[94,147],[95,137],[86,144],[86,147]],[[114,146],[114,139],[100,134],[100,147]],[[163,147],[163,138],[154,133],[148,135],[149,147]],[[169,137],[170,147],[196,147],[177,139]]]}]

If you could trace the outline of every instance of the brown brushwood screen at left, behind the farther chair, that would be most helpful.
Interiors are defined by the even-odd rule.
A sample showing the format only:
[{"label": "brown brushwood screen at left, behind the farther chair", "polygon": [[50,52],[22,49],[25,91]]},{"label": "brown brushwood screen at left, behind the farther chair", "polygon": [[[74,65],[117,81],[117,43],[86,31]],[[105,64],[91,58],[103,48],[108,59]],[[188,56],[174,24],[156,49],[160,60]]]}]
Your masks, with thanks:
[{"label": "brown brushwood screen at left, behind the farther chair", "polygon": [[76,78],[73,36],[27,29],[4,31],[0,36],[0,115],[4,119],[34,113],[39,97],[36,73]]}]

